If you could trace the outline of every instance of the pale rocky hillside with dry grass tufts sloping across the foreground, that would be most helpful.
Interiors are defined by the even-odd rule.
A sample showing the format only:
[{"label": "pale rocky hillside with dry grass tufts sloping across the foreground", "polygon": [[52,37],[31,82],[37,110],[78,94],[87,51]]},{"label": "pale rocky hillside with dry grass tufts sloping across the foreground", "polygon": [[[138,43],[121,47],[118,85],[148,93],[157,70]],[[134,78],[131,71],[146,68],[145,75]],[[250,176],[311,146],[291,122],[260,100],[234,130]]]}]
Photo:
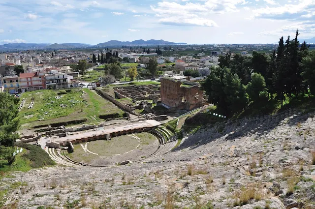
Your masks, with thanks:
[{"label": "pale rocky hillside with dry grass tufts sloping across the foreground", "polygon": [[217,123],[184,136],[143,163],[14,173],[1,180],[3,200],[19,209],[315,207],[314,113]]}]

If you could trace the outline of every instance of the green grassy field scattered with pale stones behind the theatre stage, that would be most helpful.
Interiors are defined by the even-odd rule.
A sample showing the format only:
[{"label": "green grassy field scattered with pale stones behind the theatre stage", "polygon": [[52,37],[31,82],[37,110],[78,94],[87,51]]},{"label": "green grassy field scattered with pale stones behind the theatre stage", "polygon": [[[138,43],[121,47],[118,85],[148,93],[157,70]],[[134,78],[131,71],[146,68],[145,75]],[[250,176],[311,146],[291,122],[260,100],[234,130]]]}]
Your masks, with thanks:
[{"label": "green grassy field scattered with pale stones behind the theatre stage", "polygon": [[[58,95],[58,93],[63,93]],[[31,98],[34,97],[32,109],[28,109]],[[89,89],[65,90],[37,90],[23,93],[26,98],[24,108],[19,116],[25,126],[49,124],[78,119],[87,119],[88,122],[102,121],[99,115],[112,113],[122,114],[123,111],[110,101],[100,97]]]}]

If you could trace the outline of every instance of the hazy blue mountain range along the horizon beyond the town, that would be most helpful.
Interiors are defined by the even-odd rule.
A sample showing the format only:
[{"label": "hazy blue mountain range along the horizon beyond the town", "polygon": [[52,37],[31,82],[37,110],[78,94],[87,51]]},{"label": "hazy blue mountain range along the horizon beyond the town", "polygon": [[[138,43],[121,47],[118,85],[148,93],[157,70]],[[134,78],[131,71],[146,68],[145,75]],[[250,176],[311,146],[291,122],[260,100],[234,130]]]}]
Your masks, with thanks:
[{"label": "hazy blue mountain range along the horizon beyond the town", "polygon": [[150,46],[150,45],[186,45],[187,43],[175,43],[164,40],[135,40],[135,41],[117,41],[111,40],[105,43],[99,43],[96,45],[81,44],[81,43],[10,43],[0,45],[0,51],[12,51],[12,50],[35,50],[35,49],[79,49],[79,48],[101,48],[101,47],[113,47],[113,46]]}]

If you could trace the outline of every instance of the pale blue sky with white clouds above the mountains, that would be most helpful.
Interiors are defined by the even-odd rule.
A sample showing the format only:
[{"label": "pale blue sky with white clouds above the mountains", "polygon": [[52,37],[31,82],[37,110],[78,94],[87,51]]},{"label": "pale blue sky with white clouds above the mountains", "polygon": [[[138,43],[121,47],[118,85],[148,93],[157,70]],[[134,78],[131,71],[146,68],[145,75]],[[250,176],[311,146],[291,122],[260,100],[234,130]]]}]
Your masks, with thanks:
[{"label": "pale blue sky with white clouds above the mountains", "polygon": [[315,0],[0,0],[0,19],[0,44],[275,43],[315,36]]}]

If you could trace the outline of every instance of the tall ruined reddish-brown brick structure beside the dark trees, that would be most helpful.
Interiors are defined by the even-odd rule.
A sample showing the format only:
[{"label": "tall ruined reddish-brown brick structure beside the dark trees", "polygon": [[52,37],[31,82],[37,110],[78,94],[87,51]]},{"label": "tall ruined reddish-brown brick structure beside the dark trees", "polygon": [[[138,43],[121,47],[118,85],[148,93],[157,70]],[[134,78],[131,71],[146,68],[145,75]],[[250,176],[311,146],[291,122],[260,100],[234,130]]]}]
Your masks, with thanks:
[{"label": "tall ruined reddish-brown brick structure beside the dark trees", "polygon": [[162,104],[177,110],[192,110],[205,105],[203,91],[198,86],[181,87],[181,81],[161,78]]}]

